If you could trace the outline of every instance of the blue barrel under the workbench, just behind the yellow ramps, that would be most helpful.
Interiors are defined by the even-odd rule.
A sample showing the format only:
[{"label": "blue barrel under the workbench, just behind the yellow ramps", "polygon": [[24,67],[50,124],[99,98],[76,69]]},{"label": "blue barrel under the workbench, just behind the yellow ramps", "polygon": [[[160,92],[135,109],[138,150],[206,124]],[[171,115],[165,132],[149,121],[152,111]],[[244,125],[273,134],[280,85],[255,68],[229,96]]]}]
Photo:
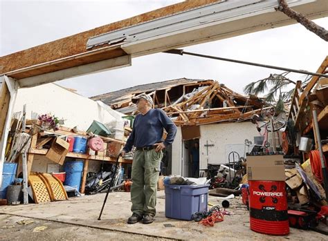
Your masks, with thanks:
[{"label": "blue barrel under the workbench, just behind the yellow ramps", "polygon": [[83,161],[66,161],[64,164],[64,171],[66,172],[64,184],[76,187],[79,191],[83,171]]}]

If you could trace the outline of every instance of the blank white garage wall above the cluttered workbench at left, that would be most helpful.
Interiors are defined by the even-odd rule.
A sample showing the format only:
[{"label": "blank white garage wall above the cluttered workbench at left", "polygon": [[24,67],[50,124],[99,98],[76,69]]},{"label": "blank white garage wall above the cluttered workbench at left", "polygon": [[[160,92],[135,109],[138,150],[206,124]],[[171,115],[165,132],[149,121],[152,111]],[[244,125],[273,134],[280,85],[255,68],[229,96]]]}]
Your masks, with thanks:
[{"label": "blank white garage wall above the cluttered workbench at left", "polygon": [[71,128],[78,126],[80,131],[86,131],[94,119],[104,124],[115,121],[115,118],[97,102],[56,84],[19,89],[14,112],[22,111],[24,104],[26,104],[28,119],[31,111],[39,115],[51,113],[60,119],[65,119],[64,126]]}]

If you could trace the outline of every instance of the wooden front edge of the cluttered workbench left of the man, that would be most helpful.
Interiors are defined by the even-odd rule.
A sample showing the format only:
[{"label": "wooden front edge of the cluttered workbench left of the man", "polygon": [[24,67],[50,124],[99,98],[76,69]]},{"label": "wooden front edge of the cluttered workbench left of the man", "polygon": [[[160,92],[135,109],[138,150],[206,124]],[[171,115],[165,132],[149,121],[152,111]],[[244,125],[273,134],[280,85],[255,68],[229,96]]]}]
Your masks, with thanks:
[{"label": "wooden front edge of the cluttered workbench left of the man", "polygon": [[[36,155],[46,155],[48,152],[48,149],[37,149],[37,148],[30,148],[28,151],[29,154],[36,154]],[[67,153],[66,157],[73,157],[78,159],[84,159],[84,160],[95,160],[95,161],[106,161],[106,162],[116,162],[115,157],[102,157],[99,155],[89,155],[89,154],[82,154],[82,153]],[[118,160],[119,163],[122,164],[131,164],[132,160],[125,160],[121,159]]]}]

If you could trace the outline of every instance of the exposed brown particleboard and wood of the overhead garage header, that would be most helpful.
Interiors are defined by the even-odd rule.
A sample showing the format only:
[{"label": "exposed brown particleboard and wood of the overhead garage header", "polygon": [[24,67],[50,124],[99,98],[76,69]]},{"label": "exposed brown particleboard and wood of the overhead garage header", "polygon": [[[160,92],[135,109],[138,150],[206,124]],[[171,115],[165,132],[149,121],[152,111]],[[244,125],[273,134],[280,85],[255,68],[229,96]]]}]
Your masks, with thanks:
[{"label": "exposed brown particleboard and wood of the overhead garage header", "polygon": [[[29,68],[31,66],[40,66],[51,61],[65,59],[67,57],[72,57],[74,55],[81,55],[82,53],[86,53],[87,52],[86,42],[90,37],[102,35],[104,33],[111,32],[113,30],[119,30],[121,28],[127,28],[129,26],[134,26],[136,24],[144,23],[161,17],[174,15],[179,12],[183,12],[193,8],[198,8],[219,1],[221,0],[183,1],[182,3],[176,3],[172,6],[167,6],[165,8],[160,8],[151,12],[146,12],[136,17],[131,17],[129,19],[118,21],[116,23],[111,23],[105,26],[101,26],[99,28],[94,28],[86,32],[80,32],[77,35],[72,35],[63,39],[58,39],[56,41],[49,42],[47,44],[42,44],[40,46],[29,48],[28,50],[15,52],[11,55],[7,55],[0,58],[0,75],[3,73],[10,73],[19,69]],[[98,46],[96,47],[96,50],[98,50],[99,48],[104,48],[104,46]],[[113,54],[113,52],[110,50],[109,52],[106,52],[104,55],[111,55],[111,54]],[[100,59],[102,59],[102,56],[100,56]],[[109,59],[109,57],[107,57],[107,59]],[[92,58],[87,61],[90,60],[94,61],[94,59]],[[72,63],[66,62],[64,65],[57,64],[57,66],[56,65],[42,66],[42,68],[38,68],[37,72],[33,73],[31,71],[28,71],[25,74],[24,71],[21,72],[21,74],[24,73],[25,76],[40,75],[42,73],[49,73],[49,72],[61,70],[64,68],[64,66],[66,66],[66,64],[71,65],[73,64],[73,62]],[[75,62],[74,64],[80,65],[78,61]]]}]

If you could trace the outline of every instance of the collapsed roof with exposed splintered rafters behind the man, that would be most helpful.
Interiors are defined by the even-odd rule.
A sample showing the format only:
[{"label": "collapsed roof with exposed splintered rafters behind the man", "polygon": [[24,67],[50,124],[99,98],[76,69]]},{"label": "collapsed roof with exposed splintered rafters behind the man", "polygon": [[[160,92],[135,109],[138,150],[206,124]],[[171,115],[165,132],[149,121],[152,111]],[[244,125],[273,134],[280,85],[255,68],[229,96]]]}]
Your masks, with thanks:
[{"label": "collapsed roof with exposed splintered rafters behind the man", "polygon": [[121,113],[134,115],[131,99],[146,93],[152,96],[154,108],[162,108],[178,126],[236,122],[259,114],[265,102],[255,96],[244,96],[212,79],[172,79],[134,86],[91,97],[101,100]]}]

